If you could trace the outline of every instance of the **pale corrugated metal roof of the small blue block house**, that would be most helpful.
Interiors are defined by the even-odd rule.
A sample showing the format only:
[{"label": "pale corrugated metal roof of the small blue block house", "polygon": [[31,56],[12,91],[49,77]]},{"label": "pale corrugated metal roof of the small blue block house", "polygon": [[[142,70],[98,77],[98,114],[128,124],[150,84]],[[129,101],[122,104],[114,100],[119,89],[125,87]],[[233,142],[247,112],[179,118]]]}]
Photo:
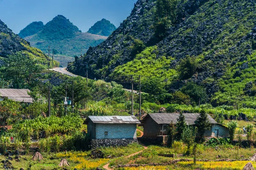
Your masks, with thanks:
[{"label": "pale corrugated metal roof of the small blue block house", "polygon": [[140,121],[135,116],[88,116],[85,122],[90,119],[93,123],[136,123]]}]

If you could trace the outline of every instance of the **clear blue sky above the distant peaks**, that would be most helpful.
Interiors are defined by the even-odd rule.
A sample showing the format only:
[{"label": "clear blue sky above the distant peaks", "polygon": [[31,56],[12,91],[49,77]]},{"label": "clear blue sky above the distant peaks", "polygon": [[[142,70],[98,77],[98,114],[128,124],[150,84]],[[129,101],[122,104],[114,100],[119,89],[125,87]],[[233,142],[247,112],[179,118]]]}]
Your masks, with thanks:
[{"label": "clear blue sky above the distant peaks", "polygon": [[82,32],[102,18],[116,27],[126,19],[137,0],[0,0],[0,20],[16,34],[33,21],[44,24],[64,15]]}]

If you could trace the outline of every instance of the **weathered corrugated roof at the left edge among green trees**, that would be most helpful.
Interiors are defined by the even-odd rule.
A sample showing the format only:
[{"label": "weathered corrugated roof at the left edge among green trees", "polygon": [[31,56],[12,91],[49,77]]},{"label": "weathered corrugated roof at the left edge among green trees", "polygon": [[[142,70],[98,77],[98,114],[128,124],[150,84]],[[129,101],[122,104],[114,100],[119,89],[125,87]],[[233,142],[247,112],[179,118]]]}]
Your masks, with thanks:
[{"label": "weathered corrugated roof at the left edge among green trees", "polygon": [[33,98],[28,95],[29,89],[0,88],[0,96],[12,99],[15,102],[32,103]]}]

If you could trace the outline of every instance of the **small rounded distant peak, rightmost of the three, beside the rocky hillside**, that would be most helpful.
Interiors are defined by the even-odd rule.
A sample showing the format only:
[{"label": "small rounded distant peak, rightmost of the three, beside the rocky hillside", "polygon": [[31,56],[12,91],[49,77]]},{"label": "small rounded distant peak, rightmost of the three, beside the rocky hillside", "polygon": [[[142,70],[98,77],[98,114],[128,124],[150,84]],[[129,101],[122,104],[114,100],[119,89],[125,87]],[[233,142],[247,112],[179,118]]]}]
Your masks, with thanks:
[{"label": "small rounded distant peak, rightmost of the three, beside the rocky hillside", "polygon": [[110,21],[103,18],[102,20],[96,22],[87,32],[102,36],[110,36],[112,32],[115,30],[116,26],[112,24]]}]

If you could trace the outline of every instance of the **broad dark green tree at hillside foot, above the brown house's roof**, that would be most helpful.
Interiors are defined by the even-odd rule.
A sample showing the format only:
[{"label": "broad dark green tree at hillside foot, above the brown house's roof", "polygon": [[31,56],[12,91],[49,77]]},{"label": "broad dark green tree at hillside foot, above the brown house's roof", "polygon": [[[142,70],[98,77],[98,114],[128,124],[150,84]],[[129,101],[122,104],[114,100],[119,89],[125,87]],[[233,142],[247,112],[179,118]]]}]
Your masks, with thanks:
[{"label": "broad dark green tree at hillside foot, above the brown house's roof", "polygon": [[189,97],[193,99],[195,103],[198,103],[199,100],[201,101],[202,104],[207,102],[208,96],[206,94],[206,89],[202,86],[196,85],[193,82],[189,82],[186,86],[181,88],[180,91],[183,94],[189,95]]}]

